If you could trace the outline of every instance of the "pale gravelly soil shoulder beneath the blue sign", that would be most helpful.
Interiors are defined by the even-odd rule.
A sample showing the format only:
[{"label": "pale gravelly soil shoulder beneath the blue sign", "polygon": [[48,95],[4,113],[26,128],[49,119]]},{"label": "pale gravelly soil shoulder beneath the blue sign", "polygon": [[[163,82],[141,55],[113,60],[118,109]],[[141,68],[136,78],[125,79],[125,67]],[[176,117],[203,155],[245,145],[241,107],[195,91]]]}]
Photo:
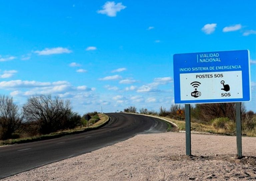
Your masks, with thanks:
[{"label": "pale gravelly soil shoulder beneath the blue sign", "polygon": [[244,158],[236,159],[236,137],[185,133],[137,135],[91,153],[45,165],[3,180],[256,180],[256,138],[243,137]]}]

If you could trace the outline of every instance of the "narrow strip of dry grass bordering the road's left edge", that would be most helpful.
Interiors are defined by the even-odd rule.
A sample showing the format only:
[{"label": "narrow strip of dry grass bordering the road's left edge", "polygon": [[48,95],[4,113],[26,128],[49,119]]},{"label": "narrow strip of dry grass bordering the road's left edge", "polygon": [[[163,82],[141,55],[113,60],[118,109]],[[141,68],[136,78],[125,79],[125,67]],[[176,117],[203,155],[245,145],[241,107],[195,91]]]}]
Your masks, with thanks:
[{"label": "narrow strip of dry grass bordering the road's left edge", "polygon": [[95,124],[93,124],[89,128],[88,127],[75,128],[75,129],[50,133],[50,134],[46,134],[46,135],[39,135],[39,136],[32,136],[32,137],[26,137],[26,138],[4,140],[4,141],[0,141],[0,146],[19,144],[19,143],[28,143],[28,142],[41,141],[41,140],[48,140],[48,139],[53,139],[53,138],[59,138],[59,137],[66,136],[66,135],[79,134],[79,133],[87,132],[87,131],[90,131],[90,130],[95,130],[95,129],[98,129],[98,128],[104,126],[109,121],[108,116],[105,115],[105,114],[100,114],[99,113],[98,116],[99,116],[99,121],[97,121]]}]

